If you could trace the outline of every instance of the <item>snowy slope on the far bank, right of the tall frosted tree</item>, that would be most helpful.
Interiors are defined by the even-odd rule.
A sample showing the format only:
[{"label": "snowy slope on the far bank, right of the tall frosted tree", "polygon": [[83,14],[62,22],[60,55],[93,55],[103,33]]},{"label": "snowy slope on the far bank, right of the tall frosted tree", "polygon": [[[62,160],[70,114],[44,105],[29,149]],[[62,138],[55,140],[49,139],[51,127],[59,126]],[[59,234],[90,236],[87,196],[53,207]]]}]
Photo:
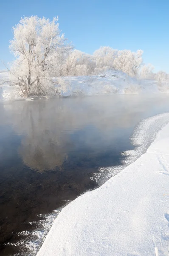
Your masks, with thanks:
[{"label": "snowy slope on the far bank, right of the tall frosted tree", "polygon": [[[107,71],[100,76],[74,76],[62,77],[62,79],[70,84],[67,95],[92,96],[161,92],[157,81],[138,80],[121,71]],[[166,89],[165,92],[169,92],[169,89]]]}]

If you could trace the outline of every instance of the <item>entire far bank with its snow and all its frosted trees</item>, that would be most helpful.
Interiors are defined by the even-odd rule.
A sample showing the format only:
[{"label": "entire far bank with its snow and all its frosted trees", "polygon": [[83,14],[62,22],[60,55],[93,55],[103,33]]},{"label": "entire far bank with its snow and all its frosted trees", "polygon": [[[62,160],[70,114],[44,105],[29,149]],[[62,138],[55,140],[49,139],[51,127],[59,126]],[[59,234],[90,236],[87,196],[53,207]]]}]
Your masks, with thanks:
[{"label": "entire far bank with its snow and all its frosted trees", "polygon": [[79,51],[61,34],[58,17],[24,17],[12,29],[14,61],[0,71],[0,99],[169,92],[169,74],[154,73],[141,49]]}]

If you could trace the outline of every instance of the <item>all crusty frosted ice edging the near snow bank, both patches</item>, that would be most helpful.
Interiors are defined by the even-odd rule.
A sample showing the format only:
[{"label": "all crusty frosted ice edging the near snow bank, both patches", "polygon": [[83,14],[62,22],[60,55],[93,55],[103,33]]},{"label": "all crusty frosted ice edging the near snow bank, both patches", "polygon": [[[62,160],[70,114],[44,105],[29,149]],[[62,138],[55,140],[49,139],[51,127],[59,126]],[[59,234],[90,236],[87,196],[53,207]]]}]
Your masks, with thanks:
[{"label": "all crusty frosted ice edging the near snow bank, both patches", "polygon": [[[153,142],[155,137],[158,134],[158,131],[161,130],[167,123],[169,122],[169,113],[163,113],[156,116],[152,116],[150,118],[144,119],[138,125],[135,126],[131,137],[131,143],[135,146],[134,150],[124,151],[122,154],[126,156],[123,164],[121,166],[108,167],[108,168],[100,168],[99,174],[93,175],[92,179],[104,183],[108,178],[117,175],[121,172],[126,166],[133,163],[137,160],[142,154],[144,154],[149,147],[149,145]],[[45,218],[45,221],[41,221],[41,227],[43,229],[39,229],[32,233],[32,240],[25,243],[25,247],[30,250],[29,256],[36,255],[42,242],[45,240],[54,219],[57,217],[61,209],[56,210],[51,215],[48,215]],[[34,239],[34,236],[36,239]],[[29,237],[30,239],[30,237]]]}]

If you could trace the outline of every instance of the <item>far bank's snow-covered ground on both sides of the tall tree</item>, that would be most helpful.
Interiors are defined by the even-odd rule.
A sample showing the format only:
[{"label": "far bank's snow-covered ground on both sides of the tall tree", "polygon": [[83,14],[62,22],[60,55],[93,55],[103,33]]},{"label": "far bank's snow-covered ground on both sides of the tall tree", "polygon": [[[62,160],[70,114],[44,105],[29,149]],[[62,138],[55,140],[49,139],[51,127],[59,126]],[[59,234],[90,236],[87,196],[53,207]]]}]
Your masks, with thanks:
[{"label": "far bank's snow-covered ground on both sides of the tall tree", "polygon": [[[120,71],[107,71],[98,76],[62,77],[69,85],[64,96],[92,96],[107,94],[139,94],[169,92],[169,86],[158,86],[155,80],[131,78]],[[3,81],[7,81],[2,84]],[[0,73],[0,99],[20,99],[17,87],[8,84],[8,73]]]}]

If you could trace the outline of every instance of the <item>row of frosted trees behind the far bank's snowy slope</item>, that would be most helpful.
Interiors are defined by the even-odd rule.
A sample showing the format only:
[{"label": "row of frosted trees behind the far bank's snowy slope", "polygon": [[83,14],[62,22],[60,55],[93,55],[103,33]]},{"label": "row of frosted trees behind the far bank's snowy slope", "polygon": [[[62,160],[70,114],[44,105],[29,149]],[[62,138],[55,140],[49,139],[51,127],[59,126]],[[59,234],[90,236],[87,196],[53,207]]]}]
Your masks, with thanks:
[{"label": "row of frosted trees behind the far bank's snowy slope", "polygon": [[[143,65],[142,50],[117,50],[111,47],[100,47],[93,55],[79,50],[69,52],[66,61],[59,66],[60,76],[90,76],[107,70],[120,70],[129,76],[138,76]],[[142,75],[150,74],[152,66],[142,69]],[[147,74],[146,74],[147,73]]]}]

